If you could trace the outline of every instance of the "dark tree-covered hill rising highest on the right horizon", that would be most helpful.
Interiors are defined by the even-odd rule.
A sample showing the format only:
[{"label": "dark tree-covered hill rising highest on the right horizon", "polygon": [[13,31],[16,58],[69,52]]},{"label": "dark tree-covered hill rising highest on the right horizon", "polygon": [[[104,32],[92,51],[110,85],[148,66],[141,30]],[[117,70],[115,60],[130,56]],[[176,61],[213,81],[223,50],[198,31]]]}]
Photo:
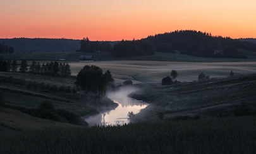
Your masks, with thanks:
[{"label": "dark tree-covered hill rising highest on the right horizon", "polygon": [[173,50],[180,50],[212,54],[214,50],[222,49],[224,50],[224,54],[236,54],[237,48],[256,52],[256,43],[251,41],[212,36],[210,33],[193,30],[163,33],[149,36],[146,39],[154,43],[157,52],[173,52]]}]

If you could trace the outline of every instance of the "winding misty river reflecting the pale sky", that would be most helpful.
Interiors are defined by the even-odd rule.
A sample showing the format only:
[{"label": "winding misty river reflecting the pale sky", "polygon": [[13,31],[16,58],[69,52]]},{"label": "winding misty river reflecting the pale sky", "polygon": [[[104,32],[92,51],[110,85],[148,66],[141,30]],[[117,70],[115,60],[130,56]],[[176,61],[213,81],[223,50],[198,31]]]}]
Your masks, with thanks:
[{"label": "winding misty river reflecting the pale sky", "polygon": [[113,99],[114,102],[118,103],[118,107],[111,111],[106,111],[104,113],[99,113],[95,116],[90,116],[89,118],[85,118],[85,121],[89,124],[89,126],[94,125],[113,125],[113,124],[125,124],[129,123],[127,114],[132,111],[134,114],[140,112],[140,109],[147,107],[149,104],[143,101],[137,101],[136,99],[132,99],[128,97],[133,91],[137,89],[133,88],[121,88],[118,92],[109,92],[107,93],[107,97]]}]

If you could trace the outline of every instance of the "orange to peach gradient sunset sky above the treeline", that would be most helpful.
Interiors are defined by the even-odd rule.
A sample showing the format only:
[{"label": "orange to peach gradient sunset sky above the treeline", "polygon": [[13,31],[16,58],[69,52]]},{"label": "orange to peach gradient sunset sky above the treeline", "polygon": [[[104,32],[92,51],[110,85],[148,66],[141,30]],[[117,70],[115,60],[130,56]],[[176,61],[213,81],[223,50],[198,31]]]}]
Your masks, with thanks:
[{"label": "orange to peach gradient sunset sky above the treeline", "polygon": [[175,30],[256,38],[255,0],[0,0],[0,38],[132,40]]}]

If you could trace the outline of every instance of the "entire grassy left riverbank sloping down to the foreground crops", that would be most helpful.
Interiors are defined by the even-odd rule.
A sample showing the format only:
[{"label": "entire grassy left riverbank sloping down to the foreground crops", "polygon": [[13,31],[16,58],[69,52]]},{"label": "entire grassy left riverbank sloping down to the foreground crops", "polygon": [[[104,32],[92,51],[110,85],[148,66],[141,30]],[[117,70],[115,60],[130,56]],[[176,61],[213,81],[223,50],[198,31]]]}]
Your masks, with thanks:
[{"label": "entire grassy left riverbank sloping down to the foreground crops", "polygon": [[[66,126],[65,123],[69,123],[69,121],[76,123],[75,121],[79,116],[95,115],[102,110],[115,109],[118,106],[107,97],[101,101],[81,99],[79,92],[72,92],[75,88],[74,77],[63,78],[21,72],[1,72],[0,82],[0,93],[3,97],[0,102],[0,125],[9,129],[58,128],[59,126]],[[28,83],[31,85],[28,86]],[[42,87],[35,87],[35,85],[44,85],[49,89],[42,89]],[[57,90],[61,87],[67,91],[53,91],[51,87],[57,87]],[[54,109],[40,111],[39,107],[43,102],[51,102]],[[65,116],[66,114],[70,116]],[[22,123],[22,121],[26,121],[26,123]],[[59,123],[59,121],[63,123]],[[73,124],[71,125],[73,126]]]}]

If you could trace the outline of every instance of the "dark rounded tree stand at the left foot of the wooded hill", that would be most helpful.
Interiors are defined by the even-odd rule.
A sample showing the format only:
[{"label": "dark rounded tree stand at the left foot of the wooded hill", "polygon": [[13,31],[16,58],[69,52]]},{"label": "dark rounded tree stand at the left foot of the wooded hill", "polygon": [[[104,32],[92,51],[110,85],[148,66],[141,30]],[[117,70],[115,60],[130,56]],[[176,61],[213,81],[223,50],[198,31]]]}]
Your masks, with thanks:
[{"label": "dark rounded tree stand at the left foot of the wooded hill", "polygon": [[113,57],[154,55],[154,44],[149,40],[119,41],[113,47]]}]

